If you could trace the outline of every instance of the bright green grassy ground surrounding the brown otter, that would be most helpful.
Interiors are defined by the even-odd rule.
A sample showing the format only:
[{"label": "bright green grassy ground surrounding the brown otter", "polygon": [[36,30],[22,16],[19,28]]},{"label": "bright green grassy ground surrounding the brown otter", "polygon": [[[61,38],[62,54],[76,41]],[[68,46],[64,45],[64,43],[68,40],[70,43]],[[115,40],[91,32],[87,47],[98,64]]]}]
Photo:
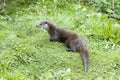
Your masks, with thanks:
[{"label": "bright green grassy ground surrounding the brown otter", "polygon": [[[0,15],[1,80],[120,79],[120,27],[115,28],[120,24],[93,8],[63,3],[38,1],[17,10],[11,21]],[[35,27],[43,19],[85,38],[90,52],[87,73],[78,53],[66,52],[62,43],[46,42],[48,33]]]}]

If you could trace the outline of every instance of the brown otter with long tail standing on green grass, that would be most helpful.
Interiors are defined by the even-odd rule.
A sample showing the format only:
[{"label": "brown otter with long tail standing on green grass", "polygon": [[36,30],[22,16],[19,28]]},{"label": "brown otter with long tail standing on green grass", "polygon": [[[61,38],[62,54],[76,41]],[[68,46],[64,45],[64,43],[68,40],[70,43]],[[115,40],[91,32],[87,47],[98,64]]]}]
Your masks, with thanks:
[{"label": "brown otter with long tail standing on green grass", "polygon": [[84,71],[88,71],[88,57],[89,52],[85,40],[77,33],[70,30],[60,28],[48,20],[41,21],[37,28],[43,28],[48,31],[50,35],[49,41],[58,41],[65,44],[67,51],[79,52],[82,57]]}]

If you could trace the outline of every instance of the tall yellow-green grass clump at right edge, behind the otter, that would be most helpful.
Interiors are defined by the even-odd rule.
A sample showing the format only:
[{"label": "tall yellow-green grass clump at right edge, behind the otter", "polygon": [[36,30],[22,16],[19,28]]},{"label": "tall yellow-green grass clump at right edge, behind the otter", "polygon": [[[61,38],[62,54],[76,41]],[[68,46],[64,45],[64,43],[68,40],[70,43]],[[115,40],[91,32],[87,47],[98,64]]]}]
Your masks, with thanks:
[{"label": "tall yellow-green grass clump at right edge, behind the otter", "polygon": [[[90,26],[91,35],[99,36],[101,39],[112,40],[114,43],[120,43],[120,29],[119,24],[113,24],[107,16],[101,13],[88,15],[89,19],[86,21],[86,26]],[[92,21],[91,21],[92,20]],[[96,22],[96,20],[98,22]],[[99,24],[99,25],[98,25]]]}]

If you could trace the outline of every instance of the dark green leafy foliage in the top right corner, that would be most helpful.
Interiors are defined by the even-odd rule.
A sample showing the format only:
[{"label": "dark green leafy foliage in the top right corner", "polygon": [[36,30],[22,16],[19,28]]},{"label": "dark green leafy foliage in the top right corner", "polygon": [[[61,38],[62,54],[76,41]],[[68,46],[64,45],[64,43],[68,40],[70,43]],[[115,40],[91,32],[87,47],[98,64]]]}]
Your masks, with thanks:
[{"label": "dark green leafy foliage in the top right corner", "polygon": [[107,13],[109,17],[120,20],[120,2],[119,0],[92,0],[90,4],[97,11]]}]

